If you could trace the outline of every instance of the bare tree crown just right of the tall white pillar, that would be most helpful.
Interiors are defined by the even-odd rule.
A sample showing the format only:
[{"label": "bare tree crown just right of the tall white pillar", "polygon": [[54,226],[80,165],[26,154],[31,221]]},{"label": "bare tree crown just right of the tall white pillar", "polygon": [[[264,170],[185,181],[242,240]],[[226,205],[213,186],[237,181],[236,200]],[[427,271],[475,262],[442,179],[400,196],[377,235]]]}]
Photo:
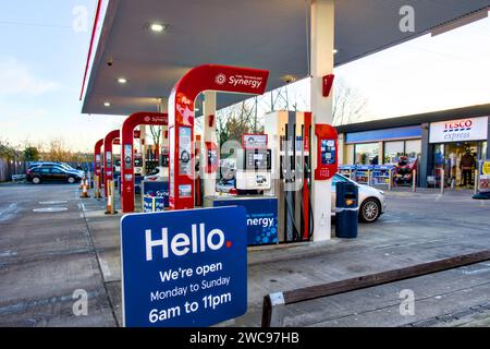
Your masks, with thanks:
[{"label": "bare tree crown just right of the tall white pillar", "polygon": [[333,124],[342,125],[359,121],[368,115],[368,100],[343,81],[335,85],[333,97]]}]

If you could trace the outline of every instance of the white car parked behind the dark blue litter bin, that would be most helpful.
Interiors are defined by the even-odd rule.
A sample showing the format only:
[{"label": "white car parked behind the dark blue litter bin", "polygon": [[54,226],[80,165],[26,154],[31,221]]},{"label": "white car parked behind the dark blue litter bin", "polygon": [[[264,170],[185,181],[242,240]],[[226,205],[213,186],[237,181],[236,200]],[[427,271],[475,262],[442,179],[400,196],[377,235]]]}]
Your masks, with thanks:
[{"label": "white car parked behind the dark blue litter bin", "polygon": [[332,216],[335,215],[335,191],[336,183],[351,182],[357,185],[359,189],[359,220],[365,222],[373,222],[384,213],[387,209],[387,198],[384,192],[376,188],[358,184],[353,180],[336,173],[332,179]]}]

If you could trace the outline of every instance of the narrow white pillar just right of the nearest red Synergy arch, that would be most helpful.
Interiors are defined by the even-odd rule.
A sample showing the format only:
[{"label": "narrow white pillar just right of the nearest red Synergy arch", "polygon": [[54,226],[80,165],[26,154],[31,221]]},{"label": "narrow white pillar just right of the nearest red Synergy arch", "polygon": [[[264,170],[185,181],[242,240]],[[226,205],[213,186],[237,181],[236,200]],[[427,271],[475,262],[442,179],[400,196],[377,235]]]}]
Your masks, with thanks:
[{"label": "narrow white pillar just right of the nearest red Synergy arch", "polygon": [[[204,196],[215,196],[217,171],[206,173],[207,152],[204,142],[211,142],[218,145],[218,137],[216,134],[216,92],[205,92],[205,100],[203,104],[203,146],[200,169],[204,176]],[[212,116],[212,117],[211,117]],[[210,119],[212,118],[212,124]]]}]

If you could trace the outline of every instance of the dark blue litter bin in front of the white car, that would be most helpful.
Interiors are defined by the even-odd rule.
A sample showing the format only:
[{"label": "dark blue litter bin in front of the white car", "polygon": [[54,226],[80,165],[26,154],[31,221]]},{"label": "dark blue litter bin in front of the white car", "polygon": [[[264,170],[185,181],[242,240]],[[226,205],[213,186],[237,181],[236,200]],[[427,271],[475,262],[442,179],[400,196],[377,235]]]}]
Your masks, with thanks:
[{"label": "dark blue litter bin in front of the white car", "polygon": [[343,239],[357,238],[359,189],[355,183],[336,183],[335,208],[335,236]]}]

